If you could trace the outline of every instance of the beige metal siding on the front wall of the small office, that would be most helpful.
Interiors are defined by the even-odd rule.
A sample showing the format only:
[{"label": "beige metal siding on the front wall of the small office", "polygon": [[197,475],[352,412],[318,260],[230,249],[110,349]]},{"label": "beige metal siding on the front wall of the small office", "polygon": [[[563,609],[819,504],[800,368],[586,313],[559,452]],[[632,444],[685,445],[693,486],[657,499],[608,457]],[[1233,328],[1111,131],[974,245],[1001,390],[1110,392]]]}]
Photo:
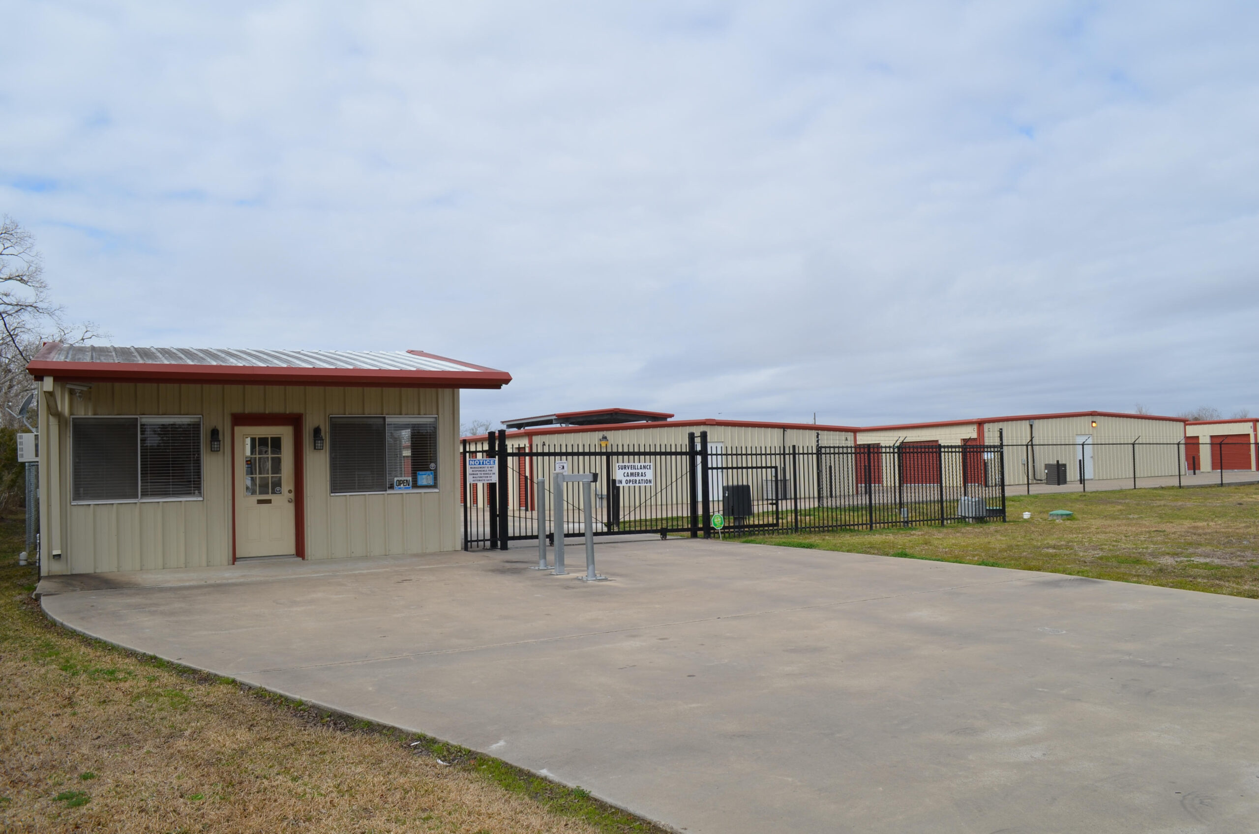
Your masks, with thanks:
[{"label": "beige metal siding on the front wall of the small office", "polygon": [[[65,557],[44,533],[44,572],[92,573],[232,562],[232,414],[300,413],[305,437],[306,558],[434,553],[460,546],[458,392],[453,389],[325,388],[300,386],[178,386],[97,383],[82,399],[54,386],[68,414],[200,414],[203,418],[204,500],[117,504],[69,503],[69,420],[52,421],[40,409],[43,437],[57,437],[53,451],[60,489],[42,484],[42,495],[58,496],[48,514],[64,514]],[[329,431],[330,414],[436,414],[438,418],[438,489],[379,495],[331,495],[329,451],[310,447],[311,432]],[[49,425],[48,428],[44,428]],[[209,451],[218,427],[223,451]],[[40,477],[44,479],[44,467]],[[53,474],[49,474],[53,480]]]}]

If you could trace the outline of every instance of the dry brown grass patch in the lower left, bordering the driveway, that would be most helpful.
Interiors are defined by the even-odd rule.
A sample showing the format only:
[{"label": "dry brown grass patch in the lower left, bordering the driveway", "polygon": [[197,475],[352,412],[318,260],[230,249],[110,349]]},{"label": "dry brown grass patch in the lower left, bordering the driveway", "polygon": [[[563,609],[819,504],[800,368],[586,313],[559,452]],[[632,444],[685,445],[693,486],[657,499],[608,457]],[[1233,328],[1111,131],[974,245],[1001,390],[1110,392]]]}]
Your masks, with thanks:
[{"label": "dry brown grass patch in the lower left, bordering the driveway", "polygon": [[62,631],[31,606],[33,574],[9,557],[0,572],[5,831],[658,830],[502,762],[449,750],[444,766],[432,740]]}]

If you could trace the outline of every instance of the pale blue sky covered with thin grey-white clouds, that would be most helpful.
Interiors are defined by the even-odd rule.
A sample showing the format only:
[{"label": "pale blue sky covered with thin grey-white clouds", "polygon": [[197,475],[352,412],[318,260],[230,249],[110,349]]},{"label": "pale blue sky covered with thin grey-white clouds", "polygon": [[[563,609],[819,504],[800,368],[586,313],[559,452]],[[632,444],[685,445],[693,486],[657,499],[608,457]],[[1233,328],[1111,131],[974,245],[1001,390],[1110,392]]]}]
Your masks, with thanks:
[{"label": "pale blue sky covered with thin grey-white clouds", "polygon": [[1254,3],[0,0],[0,212],[113,344],[465,418],[1259,413]]}]

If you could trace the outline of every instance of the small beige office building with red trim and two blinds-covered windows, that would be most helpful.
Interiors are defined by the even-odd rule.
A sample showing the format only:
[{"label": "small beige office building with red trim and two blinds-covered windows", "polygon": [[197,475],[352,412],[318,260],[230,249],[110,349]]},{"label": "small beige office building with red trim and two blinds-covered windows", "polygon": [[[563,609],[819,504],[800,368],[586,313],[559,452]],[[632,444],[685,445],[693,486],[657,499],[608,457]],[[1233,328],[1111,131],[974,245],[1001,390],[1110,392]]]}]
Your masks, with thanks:
[{"label": "small beige office building with red trim and two blinds-covered windows", "polygon": [[59,343],[28,370],[43,574],[457,549],[460,389],[511,380],[419,350]]}]

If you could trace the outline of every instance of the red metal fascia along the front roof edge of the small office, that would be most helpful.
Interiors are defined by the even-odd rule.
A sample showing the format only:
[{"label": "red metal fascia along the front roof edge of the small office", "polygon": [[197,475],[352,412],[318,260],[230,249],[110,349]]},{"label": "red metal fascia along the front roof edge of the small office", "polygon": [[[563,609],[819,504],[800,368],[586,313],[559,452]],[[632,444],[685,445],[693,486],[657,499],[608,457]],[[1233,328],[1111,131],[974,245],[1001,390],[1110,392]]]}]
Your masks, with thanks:
[{"label": "red metal fascia along the front roof edge of the small office", "polygon": [[[40,350],[43,354],[44,350]],[[453,362],[453,360],[452,360]],[[460,363],[467,365],[467,363]],[[468,365],[475,368],[476,365]],[[35,378],[82,382],[223,383],[243,386],[341,386],[380,388],[502,388],[505,370],[381,370],[363,368],[274,368],[249,365],[178,365],[166,363],[48,362],[26,365]]]}]

